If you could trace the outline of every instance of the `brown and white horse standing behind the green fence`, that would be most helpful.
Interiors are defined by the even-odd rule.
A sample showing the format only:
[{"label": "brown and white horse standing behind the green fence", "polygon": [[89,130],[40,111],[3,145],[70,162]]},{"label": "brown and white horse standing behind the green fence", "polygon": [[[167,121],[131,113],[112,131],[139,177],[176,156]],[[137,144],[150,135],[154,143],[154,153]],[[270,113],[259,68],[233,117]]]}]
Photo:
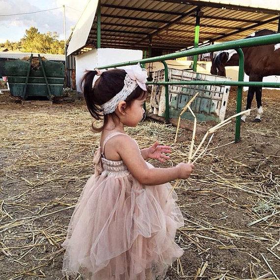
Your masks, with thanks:
[{"label": "brown and white horse standing behind the green fence", "polygon": [[[249,37],[246,38],[271,35],[275,33],[277,32],[269,29],[263,29],[252,33]],[[242,50],[245,58],[244,70],[245,73],[249,76],[250,82],[262,82],[263,77],[280,75],[280,44],[248,47],[242,48]],[[212,61],[212,75],[225,77],[225,66],[239,65],[239,56],[235,50],[221,51],[214,54],[212,53],[210,54],[210,57]],[[261,114],[263,113],[261,104],[261,87],[249,87],[246,110],[251,109],[254,93],[256,94],[257,102],[257,115],[254,119],[254,122],[260,122]],[[246,117],[249,115],[250,113],[247,115],[243,115],[241,119],[245,122]]]}]

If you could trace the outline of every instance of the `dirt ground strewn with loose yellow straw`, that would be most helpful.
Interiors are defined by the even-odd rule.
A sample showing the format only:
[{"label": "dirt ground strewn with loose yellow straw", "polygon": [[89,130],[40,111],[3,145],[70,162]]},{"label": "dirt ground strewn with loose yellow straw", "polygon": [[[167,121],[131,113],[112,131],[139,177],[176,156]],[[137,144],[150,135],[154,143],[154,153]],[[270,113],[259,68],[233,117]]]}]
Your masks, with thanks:
[{"label": "dirt ground strewn with loose yellow straw", "polygon": [[[227,117],[235,98],[232,89]],[[280,278],[280,91],[263,90],[263,109],[261,123],[253,111],[242,124],[239,143],[231,143],[234,121],[215,133],[176,188],[185,218],[176,242],[185,252],[166,280]],[[61,243],[99,144],[91,122],[83,101],[31,106],[0,95],[1,280],[66,279]],[[181,129],[173,144],[175,132],[152,120],[128,129],[141,148],[155,140],[172,146],[170,161],[152,161],[157,167],[187,159],[192,132]]]}]

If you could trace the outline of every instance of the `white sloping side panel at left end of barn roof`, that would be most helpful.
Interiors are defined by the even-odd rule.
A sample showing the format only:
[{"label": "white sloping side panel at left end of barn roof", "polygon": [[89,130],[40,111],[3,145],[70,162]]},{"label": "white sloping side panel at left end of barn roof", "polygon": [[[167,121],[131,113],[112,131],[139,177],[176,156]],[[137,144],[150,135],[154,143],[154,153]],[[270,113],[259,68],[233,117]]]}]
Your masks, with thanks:
[{"label": "white sloping side panel at left end of barn roof", "polygon": [[67,56],[84,47],[95,17],[98,0],[89,0],[70,39]]}]

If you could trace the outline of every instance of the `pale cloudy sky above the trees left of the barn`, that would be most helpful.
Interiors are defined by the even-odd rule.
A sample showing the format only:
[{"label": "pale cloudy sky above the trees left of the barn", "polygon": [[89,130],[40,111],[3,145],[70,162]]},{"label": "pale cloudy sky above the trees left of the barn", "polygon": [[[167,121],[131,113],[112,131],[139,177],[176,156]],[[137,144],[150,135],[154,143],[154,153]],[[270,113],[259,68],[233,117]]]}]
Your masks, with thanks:
[{"label": "pale cloudy sky above the trees left of the barn", "polygon": [[59,38],[63,35],[63,9],[28,15],[1,16],[7,14],[28,13],[61,7],[65,4],[66,39],[71,28],[77,23],[88,0],[0,0],[0,43],[18,41],[25,35],[25,30],[34,26],[38,31],[56,31]]}]

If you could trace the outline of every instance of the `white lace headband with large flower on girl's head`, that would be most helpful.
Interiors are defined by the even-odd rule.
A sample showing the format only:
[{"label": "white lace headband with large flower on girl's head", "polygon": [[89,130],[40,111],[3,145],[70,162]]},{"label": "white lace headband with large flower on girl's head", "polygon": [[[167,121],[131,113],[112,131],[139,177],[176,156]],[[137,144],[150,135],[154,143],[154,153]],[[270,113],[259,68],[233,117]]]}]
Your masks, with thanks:
[{"label": "white lace headband with large flower on girl's head", "polygon": [[122,68],[127,73],[124,79],[124,86],[112,99],[102,104],[100,107],[104,114],[110,114],[115,111],[120,101],[124,101],[139,85],[141,89],[147,90],[147,70],[137,65]]}]

